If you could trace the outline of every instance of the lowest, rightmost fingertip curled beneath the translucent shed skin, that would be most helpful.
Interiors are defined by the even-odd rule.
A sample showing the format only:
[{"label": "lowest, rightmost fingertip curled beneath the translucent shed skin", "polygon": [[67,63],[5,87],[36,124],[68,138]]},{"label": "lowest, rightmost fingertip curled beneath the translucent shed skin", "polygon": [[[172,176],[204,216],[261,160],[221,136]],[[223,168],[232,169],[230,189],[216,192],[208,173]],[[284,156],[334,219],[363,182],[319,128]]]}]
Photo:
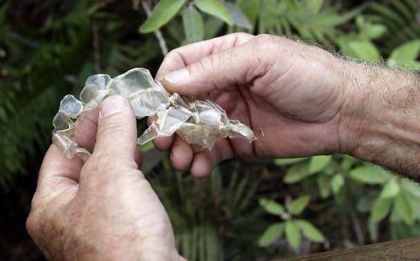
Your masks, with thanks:
[{"label": "lowest, rightmost fingertip curled beneath the translucent shed skin", "polygon": [[203,179],[208,176],[215,165],[233,156],[232,147],[228,139],[223,138],[214,144],[212,150],[201,150],[194,154],[191,163],[191,174],[197,179]]}]

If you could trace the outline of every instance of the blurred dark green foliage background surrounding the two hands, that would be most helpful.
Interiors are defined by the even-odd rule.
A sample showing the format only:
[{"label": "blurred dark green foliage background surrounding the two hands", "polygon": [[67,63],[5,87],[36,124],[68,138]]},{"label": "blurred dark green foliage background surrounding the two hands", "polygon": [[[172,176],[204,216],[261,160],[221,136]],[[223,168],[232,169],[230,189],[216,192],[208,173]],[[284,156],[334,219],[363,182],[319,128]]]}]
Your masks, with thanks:
[{"label": "blurred dark green foliage background surrounding the two hands", "polygon": [[[238,31],[299,37],[352,59],[420,69],[417,0],[0,3],[4,260],[43,259],[24,228],[37,171],[58,102],[93,73],[136,66],[156,73],[168,50]],[[350,156],[233,159],[198,181],[174,171],[153,145],[142,150],[142,169],[188,260],[266,260],[420,235],[420,188]]]}]

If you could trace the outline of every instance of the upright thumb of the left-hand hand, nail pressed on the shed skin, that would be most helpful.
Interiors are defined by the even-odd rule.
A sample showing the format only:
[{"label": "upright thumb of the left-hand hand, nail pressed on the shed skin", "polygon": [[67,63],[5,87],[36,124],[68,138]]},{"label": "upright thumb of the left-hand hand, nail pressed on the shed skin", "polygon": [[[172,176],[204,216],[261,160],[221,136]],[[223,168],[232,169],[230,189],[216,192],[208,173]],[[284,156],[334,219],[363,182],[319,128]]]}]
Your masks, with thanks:
[{"label": "upright thumb of the left-hand hand, nail pressed on the shed skin", "polygon": [[110,96],[102,102],[93,154],[134,160],[137,126],[129,101]]}]

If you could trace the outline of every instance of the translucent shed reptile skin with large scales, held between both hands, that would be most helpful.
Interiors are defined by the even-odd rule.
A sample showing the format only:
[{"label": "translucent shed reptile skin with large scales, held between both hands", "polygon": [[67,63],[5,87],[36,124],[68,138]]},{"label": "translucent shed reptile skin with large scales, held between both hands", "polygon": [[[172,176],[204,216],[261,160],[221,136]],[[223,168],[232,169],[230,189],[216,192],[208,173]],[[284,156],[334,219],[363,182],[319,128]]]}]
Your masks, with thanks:
[{"label": "translucent shed reptile skin with large scales, held between both hands", "polygon": [[176,133],[197,152],[211,150],[219,138],[255,140],[252,129],[239,120],[230,120],[226,111],[212,100],[194,100],[169,93],[152,78],[149,70],[134,68],[116,78],[107,74],[91,75],[80,92],[80,100],[72,95],[64,96],[53,119],[53,143],[68,158],[78,155],[84,161],[89,159],[91,154],[72,140],[75,121],[112,94],[127,98],[136,118],[156,116],[156,121],[137,139],[138,144]]}]

